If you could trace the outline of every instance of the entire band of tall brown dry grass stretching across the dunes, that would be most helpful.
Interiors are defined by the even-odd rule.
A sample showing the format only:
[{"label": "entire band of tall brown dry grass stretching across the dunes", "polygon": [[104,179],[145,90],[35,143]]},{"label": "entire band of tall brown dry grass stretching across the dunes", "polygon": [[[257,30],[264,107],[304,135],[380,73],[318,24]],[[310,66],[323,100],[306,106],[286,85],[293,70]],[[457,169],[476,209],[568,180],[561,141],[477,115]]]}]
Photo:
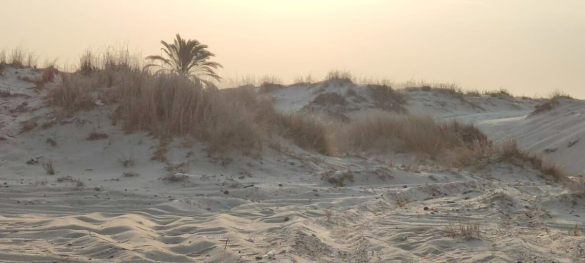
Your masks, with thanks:
[{"label": "entire band of tall brown dry grass stretching across the dunes", "polygon": [[[492,144],[468,124],[388,112],[332,123],[309,113],[276,112],[271,98],[255,88],[205,88],[179,75],[143,71],[139,60],[125,50],[101,57],[85,53],[84,57],[77,72],[61,75],[59,85],[47,96],[49,103],[76,111],[94,108],[99,100],[112,106],[111,117],[121,120],[128,132],[149,131],[160,138],[188,136],[207,143],[214,153],[260,150],[271,137],[280,136],[325,155],[422,153],[449,167],[466,167],[495,156],[500,161],[528,163],[559,180],[566,177],[539,155],[514,143]],[[404,99],[389,87],[370,88],[377,96]]]}]

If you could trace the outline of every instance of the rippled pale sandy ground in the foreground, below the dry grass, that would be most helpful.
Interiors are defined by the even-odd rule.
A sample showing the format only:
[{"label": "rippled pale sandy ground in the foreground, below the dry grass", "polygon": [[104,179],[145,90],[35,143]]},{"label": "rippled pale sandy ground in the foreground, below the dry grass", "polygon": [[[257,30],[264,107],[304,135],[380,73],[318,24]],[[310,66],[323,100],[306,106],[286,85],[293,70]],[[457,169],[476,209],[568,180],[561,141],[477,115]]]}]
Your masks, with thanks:
[{"label": "rippled pale sandy ground in the foreground, below the dry grass", "polygon": [[[14,69],[5,73],[0,90],[9,85],[21,95],[0,98],[0,262],[583,262],[585,257],[582,233],[567,234],[576,225],[583,228],[584,200],[529,168],[493,164],[470,173],[412,167],[402,165],[400,157],[324,157],[286,142],[280,151],[267,147],[263,153],[213,157],[204,145],[185,147],[176,140],[167,157],[188,163],[182,172],[189,181],[164,182],[166,165],[150,160],[157,141],[123,134],[106,117],[107,106],[42,127],[51,120],[43,92],[27,89],[32,84],[16,78]],[[300,109],[304,106],[293,105],[314,99],[295,89],[278,92],[280,109]],[[411,98],[409,110],[435,107],[433,95]],[[482,112],[494,116],[500,109],[507,115],[515,106],[506,105],[517,105],[478,100],[485,102],[483,110],[449,101],[442,116],[486,120],[490,117]],[[20,106],[23,102],[27,105]],[[530,110],[529,102],[522,103],[517,113]],[[35,116],[38,126],[20,133],[20,122]],[[92,132],[108,137],[86,140]],[[130,155],[135,164],[124,167],[121,161]],[[26,164],[30,159],[39,163]],[[56,164],[56,175],[44,173],[40,164],[47,161]],[[140,175],[123,177],[124,172]],[[84,186],[57,181],[65,176]],[[330,178],[345,178],[345,187]],[[460,223],[479,224],[480,236],[450,237],[448,226]]]}]

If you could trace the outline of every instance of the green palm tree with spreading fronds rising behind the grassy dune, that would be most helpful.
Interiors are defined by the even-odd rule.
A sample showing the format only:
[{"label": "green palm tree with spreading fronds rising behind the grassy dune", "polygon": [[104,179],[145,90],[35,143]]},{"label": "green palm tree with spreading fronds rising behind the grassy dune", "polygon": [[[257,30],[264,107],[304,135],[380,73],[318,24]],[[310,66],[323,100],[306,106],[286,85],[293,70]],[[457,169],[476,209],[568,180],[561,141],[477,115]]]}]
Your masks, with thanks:
[{"label": "green palm tree with spreading fronds rising behind the grassy dune", "polygon": [[[161,50],[167,54],[167,58],[148,56],[146,59],[150,60],[151,64],[146,65],[146,68],[160,67],[157,72],[175,72],[186,77],[193,77],[206,84],[209,82],[201,79],[201,76],[221,81],[221,77],[216,74],[215,70],[223,68],[223,66],[217,62],[209,61],[209,58],[215,57],[215,54],[207,50],[207,45],[201,44],[195,39],[182,39],[179,34],[177,34],[174,43],[168,44],[165,41],[160,41],[160,43],[164,46]],[[154,64],[157,62],[160,64]]]}]

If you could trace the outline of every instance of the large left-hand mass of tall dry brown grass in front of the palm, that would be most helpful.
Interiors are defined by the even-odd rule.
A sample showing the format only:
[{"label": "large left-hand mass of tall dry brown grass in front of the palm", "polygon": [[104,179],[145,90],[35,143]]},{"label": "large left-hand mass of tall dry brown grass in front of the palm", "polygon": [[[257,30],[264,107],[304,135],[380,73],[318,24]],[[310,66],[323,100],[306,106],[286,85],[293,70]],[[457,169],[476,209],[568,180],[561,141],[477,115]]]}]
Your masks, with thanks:
[{"label": "large left-hand mass of tall dry brown grass in front of the palm", "polygon": [[48,102],[70,112],[88,110],[96,102],[113,105],[111,117],[128,131],[145,130],[156,137],[189,136],[209,151],[260,149],[271,134],[301,147],[332,154],[325,125],[308,115],[283,115],[271,99],[255,89],[213,89],[173,74],[140,69],[125,51],[101,58],[87,51],[78,70],[63,74],[49,91]]}]

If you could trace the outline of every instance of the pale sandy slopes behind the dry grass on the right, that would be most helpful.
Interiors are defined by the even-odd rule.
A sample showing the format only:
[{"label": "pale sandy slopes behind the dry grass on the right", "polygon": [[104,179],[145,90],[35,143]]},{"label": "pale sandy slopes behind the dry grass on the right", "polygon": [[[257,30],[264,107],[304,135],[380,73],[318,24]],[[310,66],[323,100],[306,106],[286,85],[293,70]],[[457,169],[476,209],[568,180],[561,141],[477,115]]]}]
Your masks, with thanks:
[{"label": "pale sandy slopes behind the dry grass on the right", "polygon": [[[352,90],[354,93],[348,92]],[[585,173],[582,153],[585,144],[585,102],[560,99],[552,110],[531,115],[535,106],[546,99],[522,99],[508,95],[459,96],[437,89],[421,91],[405,89],[403,108],[411,114],[431,115],[436,119],[457,119],[477,124],[495,141],[517,139],[522,147],[550,158],[574,174]],[[366,85],[344,81],[300,84],[271,92],[276,108],[287,111],[314,110],[349,119],[380,110],[376,98]],[[316,103],[322,94],[337,94],[340,99],[321,105]],[[397,111],[396,108],[387,109]]]}]

